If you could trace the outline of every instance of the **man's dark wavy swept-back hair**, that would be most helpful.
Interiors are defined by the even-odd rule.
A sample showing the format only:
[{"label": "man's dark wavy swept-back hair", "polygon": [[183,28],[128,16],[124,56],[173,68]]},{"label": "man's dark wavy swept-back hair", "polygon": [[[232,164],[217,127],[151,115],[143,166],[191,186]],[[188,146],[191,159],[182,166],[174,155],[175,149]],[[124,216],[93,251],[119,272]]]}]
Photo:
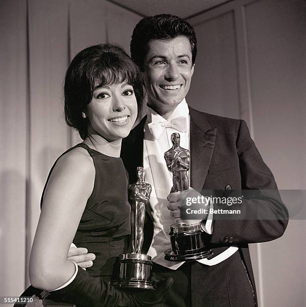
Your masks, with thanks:
[{"label": "man's dark wavy swept-back hair", "polygon": [[186,36],[190,42],[192,64],[197,56],[197,38],[193,27],[185,20],[170,14],[145,17],[135,26],[130,43],[132,60],[143,71],[144,60],[151,40],[169,40]]}]

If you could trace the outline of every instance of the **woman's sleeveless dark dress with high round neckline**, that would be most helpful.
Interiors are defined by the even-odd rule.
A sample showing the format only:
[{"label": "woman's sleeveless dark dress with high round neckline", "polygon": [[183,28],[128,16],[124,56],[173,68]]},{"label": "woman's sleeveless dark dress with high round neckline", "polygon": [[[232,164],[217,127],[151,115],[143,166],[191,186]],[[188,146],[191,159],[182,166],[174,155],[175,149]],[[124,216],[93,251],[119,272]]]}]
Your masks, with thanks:
[{"label": "woman's sleeveless dark dress with high round neckline", "polygon": [[[86,270],[93,276],[110,281],[117,257],[125,253],[128,247],[130,204],[127,201],[127,173],[121,158],[103,155],[84,143],[68,149],[60,157],[76,147],[89,152],[96,174],[93,191],[87,200],[73,243],[77,247],[86,247],[89,253],[96,255],[92,267]],[[49,173],[44,192],[57,161]],[[41,292],[42,290],[30,286],[21,296],[40,296]],[[55,303],[48,298],[44,300],[44,305],[70,305]]]}]

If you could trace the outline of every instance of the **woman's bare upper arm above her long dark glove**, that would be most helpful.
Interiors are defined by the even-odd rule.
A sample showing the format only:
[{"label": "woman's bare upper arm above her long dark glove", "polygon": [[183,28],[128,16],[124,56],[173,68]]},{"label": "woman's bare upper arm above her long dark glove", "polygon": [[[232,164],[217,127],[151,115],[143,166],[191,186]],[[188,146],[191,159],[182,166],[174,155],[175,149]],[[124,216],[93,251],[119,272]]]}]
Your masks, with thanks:
[{"label": "woman's bare upper arm above her long dark glove", "polygon": [[73,276],[75,266],[67,254],[92,193],[94,177],[93,162],[83,148],[68,152],[53,169],[30,258],[34,287],[53,290]]}]

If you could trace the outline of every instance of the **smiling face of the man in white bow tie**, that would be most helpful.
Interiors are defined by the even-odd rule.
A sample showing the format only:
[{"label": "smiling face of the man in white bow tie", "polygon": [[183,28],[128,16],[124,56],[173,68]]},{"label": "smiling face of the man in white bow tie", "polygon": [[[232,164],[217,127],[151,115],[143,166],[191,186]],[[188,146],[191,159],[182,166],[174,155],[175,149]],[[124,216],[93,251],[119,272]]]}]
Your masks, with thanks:
[{"label": "smiling face of the man in white bow tie", "polygon": [[150,41],[144,65],[148,105],[161,115],[172,112],[187,95],[193,72],[187,37]]}]

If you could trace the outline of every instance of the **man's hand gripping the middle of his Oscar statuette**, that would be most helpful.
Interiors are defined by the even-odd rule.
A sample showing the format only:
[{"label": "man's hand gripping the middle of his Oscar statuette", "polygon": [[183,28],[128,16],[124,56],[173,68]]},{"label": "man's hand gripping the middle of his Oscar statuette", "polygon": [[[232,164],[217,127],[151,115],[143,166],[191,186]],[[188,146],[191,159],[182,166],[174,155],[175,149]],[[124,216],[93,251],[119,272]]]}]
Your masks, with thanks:
[{"label": "man's hand gripping the middle of his Oscar statuette", "polygon": [[207,219],[208,199],[193,188],[185,192],[171,192],[167,199],[167,208],[176,224],[197,224]]}]

